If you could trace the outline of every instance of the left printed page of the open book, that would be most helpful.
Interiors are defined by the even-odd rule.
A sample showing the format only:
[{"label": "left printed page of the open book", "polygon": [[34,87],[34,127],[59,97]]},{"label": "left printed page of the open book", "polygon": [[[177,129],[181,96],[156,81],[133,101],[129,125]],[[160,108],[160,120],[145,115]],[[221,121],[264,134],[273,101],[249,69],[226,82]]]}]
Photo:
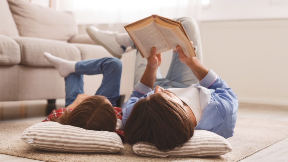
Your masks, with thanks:
[{"label": "left printed page of the open book", "polygon": [[152,47],[156,48],[157,54],[171,49],[154,22],[127,32],[145,58],[150,56]]}]

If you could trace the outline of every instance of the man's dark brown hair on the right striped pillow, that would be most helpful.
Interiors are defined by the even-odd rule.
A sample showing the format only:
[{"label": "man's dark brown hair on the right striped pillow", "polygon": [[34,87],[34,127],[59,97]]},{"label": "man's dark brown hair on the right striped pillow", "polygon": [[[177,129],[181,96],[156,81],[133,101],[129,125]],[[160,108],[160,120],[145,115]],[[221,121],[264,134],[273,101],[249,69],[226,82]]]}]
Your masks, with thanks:
[{"label": "man's dark brown hair on the right striped pillow", "polygon": [[126,142],[149,142],[159,150],[183,146],[193,136],[194,125],[185,110],[161,94],[139,100],[124,126]]}]

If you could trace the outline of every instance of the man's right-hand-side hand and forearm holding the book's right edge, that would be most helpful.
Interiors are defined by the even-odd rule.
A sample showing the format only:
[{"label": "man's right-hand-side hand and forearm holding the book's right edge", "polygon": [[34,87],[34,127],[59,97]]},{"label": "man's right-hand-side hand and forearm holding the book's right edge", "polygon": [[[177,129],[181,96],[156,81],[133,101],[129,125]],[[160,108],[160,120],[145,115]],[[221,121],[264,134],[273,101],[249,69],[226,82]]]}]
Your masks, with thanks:
[{"label": "man's right-hand-side hand and forearm holding the book's right edge", "polygon": [[[193,42],[190,41],[192,46],[193,46]],[[186,64],[191,70],[192,72],[194,73],[194,75],[196,76],[196,78],[200,81],[202,80],[208,73],[209,69],[206,68],[199,60],[198,58],[196,57],[192,57],[192,58],[189,58],[187,57],[181,47],[178,45],[176,47],[177,49],[177,52],[178,52],[178,55],[179,55],[179,60]]]}]

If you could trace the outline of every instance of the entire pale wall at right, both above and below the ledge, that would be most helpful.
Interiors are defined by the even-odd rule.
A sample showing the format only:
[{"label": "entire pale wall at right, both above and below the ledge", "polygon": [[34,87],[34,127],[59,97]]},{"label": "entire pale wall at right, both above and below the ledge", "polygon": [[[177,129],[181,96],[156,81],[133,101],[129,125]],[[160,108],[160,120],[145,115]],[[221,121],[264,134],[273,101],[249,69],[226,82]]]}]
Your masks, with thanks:
[{"label": "entire pale wall at right, both above and below the ledge", "polygon": [[287,0],[211,0],[200,32],[203,63],[239,102],[288,106]]}]

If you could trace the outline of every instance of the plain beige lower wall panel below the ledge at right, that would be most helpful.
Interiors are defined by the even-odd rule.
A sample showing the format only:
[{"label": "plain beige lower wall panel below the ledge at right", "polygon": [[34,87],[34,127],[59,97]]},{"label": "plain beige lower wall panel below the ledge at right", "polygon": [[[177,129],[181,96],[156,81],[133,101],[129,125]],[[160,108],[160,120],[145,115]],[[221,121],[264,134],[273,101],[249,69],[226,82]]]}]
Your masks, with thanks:
[{"label": "plain beige lower wall panel below the ledge at right", "polygon": [[288,19],[202,21],[203,63],[240,102],[288,106]]}]

